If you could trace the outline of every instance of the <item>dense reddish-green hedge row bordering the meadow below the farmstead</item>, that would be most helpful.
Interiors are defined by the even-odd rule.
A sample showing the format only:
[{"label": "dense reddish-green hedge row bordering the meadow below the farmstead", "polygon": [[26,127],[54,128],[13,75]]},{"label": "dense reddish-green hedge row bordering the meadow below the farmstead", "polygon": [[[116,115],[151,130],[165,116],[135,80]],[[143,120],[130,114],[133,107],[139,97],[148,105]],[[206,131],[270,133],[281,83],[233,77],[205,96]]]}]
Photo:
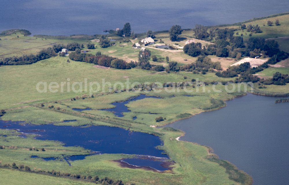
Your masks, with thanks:
[{"label": "dense reddish-green hedge row bordering the meadow below the farmstead", "polygon": [[130,69],[130,65],[122,59],[110,57],[108,55],[92,55],[89,53],[81,53],[80,51],[76,50],[69,54],[69,59],[87,63],[94,63],[100,66],[105,67],[112,67],[116,69]]}]

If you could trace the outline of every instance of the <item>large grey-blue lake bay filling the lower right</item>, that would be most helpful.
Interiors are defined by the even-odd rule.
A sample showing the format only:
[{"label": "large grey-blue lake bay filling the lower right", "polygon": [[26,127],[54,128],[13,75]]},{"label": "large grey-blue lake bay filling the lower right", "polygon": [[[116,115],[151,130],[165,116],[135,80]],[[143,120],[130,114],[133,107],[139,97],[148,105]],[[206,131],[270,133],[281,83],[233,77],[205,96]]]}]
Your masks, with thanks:
[{"label": "large grey-blue lake bay filling the lower right", "polygon": [[217,111],[204,112],[167,125],[186,132],[181,140],[213,148],[253,177],[254,185],[289,182],[289,103],[279,98],[247,96],[227,101]]}]

